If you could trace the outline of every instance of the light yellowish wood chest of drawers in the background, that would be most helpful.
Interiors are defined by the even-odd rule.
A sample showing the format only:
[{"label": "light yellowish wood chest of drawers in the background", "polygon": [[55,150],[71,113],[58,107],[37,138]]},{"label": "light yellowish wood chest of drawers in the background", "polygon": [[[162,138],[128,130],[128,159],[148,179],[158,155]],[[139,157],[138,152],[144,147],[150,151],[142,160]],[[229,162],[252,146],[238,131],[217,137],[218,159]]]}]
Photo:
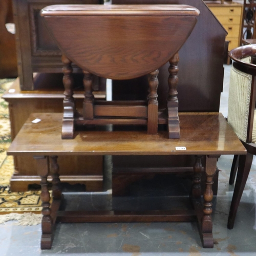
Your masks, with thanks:
[{"label": "light yellowish wood chest of drawers in the background", "polygon": [[228,32],[226,37],[226,40],[229,41],[228,50],[240,46],[243,5],[238,3],[216,4],[207,2],[207,6]]}]

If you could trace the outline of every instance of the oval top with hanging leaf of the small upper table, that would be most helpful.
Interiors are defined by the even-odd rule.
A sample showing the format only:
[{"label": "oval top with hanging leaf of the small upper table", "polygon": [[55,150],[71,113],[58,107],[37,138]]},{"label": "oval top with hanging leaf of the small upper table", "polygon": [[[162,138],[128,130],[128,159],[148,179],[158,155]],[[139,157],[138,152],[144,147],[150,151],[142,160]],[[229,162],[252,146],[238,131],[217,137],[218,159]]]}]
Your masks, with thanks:
[{"label": "oval top with hanging leaf of the small upper table", "polygon": [[40,15],[62,54],[78,67],[125,80],[167,63],[199,13],[184,5],[56,5]]}]

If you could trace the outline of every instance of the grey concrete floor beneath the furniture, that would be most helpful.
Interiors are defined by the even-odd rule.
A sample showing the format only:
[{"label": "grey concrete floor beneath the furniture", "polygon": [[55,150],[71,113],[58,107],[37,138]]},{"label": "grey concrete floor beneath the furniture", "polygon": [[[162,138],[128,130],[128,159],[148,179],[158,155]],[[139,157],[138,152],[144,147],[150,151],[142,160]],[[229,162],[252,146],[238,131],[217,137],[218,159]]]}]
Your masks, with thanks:
[{"label": "grey concrete floor beneath the furniture", "polygon": [[[221,112],[227,116],[227,94],[230,66],[225,66]],[[247,181],[236,223],[227,229],[227,217],[233,186],[228,185],[232,156],[218,162],[218,196],[214,201],[213,249],[203,249],[196,223],[84,223],[58,224],[51,250],[40,250],[40,225],[17,226],[15,222],[0,225],[0,256],[4,255],[179,255],[179,256],[241,256],[256,255],[256,162]],[[72,194],[67,193],[67,197]],[[82,196],[82,197],[81,197]],[[70,207],[89,202],[93,208],[110,207],[110,191],[83,193],[71,201]],[[146,202],[148,203],[148,202]],[[167,204],[168,205],[168,204]],[[170,203],[169,203],[170,205]],[[173,205],[170,205],[173,206]]]}]

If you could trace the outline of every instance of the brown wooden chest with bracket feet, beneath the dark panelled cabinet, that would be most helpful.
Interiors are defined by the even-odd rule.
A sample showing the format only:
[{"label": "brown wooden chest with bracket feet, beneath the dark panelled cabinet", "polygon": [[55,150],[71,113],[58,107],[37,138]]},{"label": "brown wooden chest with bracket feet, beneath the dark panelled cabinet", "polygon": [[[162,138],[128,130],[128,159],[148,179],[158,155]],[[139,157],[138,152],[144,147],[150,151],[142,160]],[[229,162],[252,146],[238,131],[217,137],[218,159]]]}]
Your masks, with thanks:
[{"label": "brown wooden chest with bracket feet, beneath the dark panelled cabinet", "polygon": [[[74,78],[77,84],[79,81],[81,84],[81,89],[78,87],[74,91],[74,98],[79,109],[82,108],[83,101],[82,74],[76,74]],[[31,113],[61,113],[63,111],[62,74],[40,74],[34,79],[34,82],[37,90],[20,91],[19,79],[17,78],[11,87],[12,90],[3,95],[3,98],[9,102],[12,140]],[[104,89],[105,82],[103,81],[102,84]],[[95,92],[95,97],[105,97],[105,90],[101,91],[101,86],[99,91]],[[102,190],[102,156],[60,156],[59,159],[61,182],[84,184],[87,191]],[[14,165],[15,171],[10,181],[12,191],[25,191],[28,189],[28,185],[40,183],[33,157],[15,156]]]}]

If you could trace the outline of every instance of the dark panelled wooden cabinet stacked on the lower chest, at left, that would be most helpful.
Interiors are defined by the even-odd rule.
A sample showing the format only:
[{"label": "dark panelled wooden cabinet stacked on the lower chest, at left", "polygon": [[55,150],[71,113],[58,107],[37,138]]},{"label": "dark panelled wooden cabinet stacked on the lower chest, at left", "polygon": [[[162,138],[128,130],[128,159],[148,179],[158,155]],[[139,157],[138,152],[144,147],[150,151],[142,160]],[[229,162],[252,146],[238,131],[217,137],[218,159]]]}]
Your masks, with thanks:
[{"label": "dark panelled wooden cabinet stacked on the lower chest, at left", "polygon": [[[102,0],[12,0],[20,89],[34,90],[34,72],[61,73],[61,52],[40,17],[40,10],[55,4],[102,3]],[[74,72],[79,70],[74,67]]]}]

